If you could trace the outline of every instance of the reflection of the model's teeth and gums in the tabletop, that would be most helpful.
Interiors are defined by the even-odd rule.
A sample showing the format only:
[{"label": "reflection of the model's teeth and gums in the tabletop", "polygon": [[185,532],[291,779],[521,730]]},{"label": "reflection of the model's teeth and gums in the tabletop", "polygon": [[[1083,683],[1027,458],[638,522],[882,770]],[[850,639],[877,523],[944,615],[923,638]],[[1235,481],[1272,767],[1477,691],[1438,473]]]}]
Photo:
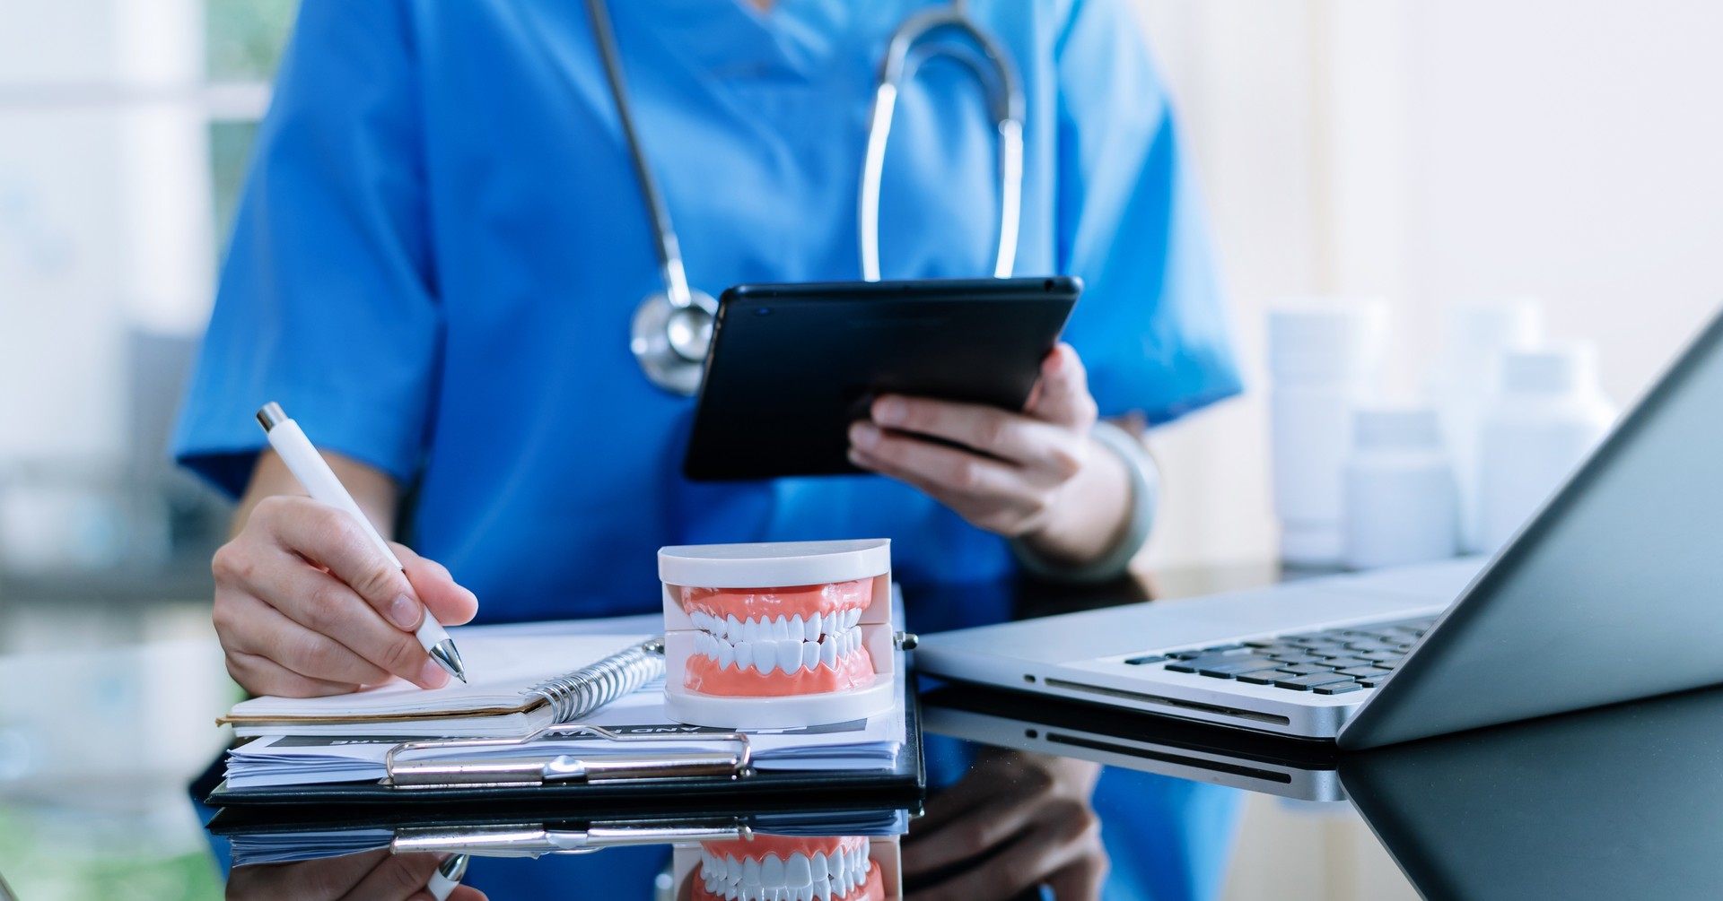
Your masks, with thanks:
[{"label": "reflection of the model's teeth and gums in the tabletop", "polygon": [[691,901],[886,901],[868,839],[789,839],[701,842]]}]

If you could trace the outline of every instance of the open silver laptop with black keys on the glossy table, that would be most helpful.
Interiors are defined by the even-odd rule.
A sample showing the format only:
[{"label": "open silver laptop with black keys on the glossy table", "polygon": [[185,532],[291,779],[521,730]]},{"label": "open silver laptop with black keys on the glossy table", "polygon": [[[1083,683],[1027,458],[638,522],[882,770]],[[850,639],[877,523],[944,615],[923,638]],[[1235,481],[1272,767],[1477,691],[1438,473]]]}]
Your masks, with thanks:
[{"label": "open silver laptop with black keys on the glossy table", "polygon": [[1489,562],[930,634],[915,665],[1342,748],[1723,684],[1723,317]]}]

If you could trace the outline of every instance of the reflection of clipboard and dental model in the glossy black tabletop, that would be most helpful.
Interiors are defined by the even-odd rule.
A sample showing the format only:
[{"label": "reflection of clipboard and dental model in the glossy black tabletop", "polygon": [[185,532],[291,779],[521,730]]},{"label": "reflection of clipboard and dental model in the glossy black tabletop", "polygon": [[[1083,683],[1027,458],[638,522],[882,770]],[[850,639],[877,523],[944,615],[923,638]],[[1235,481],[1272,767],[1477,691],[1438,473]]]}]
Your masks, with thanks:
[{"label": "reflection of clipboard and dental model in the glossy black tabletop", "polygon": [[903,896],[898,837],[908,820],[906,810],[551,822],[224,811],[210,829],[233,842],[236,899],[420,898],[450,856],[482,870],[474,882],[484,892],[462,885],[446,898],[531,898],[544,884],[532,872],[541,858],[632,848],[660,851],[656,894],[675,901],[889,901]]}]

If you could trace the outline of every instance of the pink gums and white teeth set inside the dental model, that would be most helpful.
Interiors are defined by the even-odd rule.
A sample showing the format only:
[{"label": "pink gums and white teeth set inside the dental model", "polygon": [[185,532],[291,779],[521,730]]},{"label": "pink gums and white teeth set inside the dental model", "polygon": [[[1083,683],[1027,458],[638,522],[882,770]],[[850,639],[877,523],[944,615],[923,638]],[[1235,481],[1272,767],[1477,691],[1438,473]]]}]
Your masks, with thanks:
[{"label": "pink gums and white teeth set inside the dental model", "polygon": [[858,620],[874,581],[791,587],[681,587],[701,631],[682,686],[703,694],[770,698],[874,684]]}]

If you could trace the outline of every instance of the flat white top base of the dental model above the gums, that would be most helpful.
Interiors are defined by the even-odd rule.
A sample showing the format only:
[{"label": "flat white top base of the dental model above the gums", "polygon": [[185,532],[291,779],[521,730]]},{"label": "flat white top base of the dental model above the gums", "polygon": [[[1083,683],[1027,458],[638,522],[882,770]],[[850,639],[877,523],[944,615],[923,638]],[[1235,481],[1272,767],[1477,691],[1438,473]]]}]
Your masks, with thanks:
[{"label": "flat white top base of the dental model above the gums", "polygon": [[658,548],[658,579],[691,587],[787,587],[891,572],[891,539],[772,541]]}]

